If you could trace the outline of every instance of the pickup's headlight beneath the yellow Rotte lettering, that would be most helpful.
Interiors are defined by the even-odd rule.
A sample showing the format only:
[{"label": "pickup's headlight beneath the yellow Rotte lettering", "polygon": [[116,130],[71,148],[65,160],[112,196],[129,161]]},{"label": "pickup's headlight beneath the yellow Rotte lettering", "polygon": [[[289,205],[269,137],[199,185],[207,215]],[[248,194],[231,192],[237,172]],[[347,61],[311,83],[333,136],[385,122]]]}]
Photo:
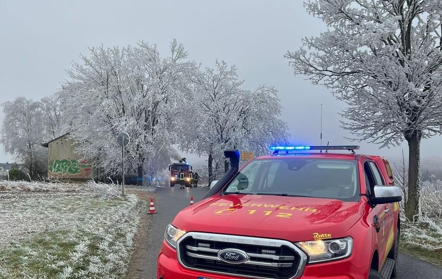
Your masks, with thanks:
[{"label": "pickup's headlight beneath the yellow Rotte lettering", "polygon": [[298,242],[298,246],[309,255],[309,263],[331,261],[352,254],[353,238],[303,241]]}]

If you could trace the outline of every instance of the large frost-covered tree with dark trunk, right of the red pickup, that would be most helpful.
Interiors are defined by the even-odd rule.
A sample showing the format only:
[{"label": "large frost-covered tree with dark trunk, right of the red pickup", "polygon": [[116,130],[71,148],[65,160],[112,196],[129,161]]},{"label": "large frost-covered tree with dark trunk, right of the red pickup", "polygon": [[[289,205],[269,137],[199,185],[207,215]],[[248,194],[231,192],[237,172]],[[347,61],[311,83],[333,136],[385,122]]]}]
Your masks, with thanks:
[{"label": "large frost-covered tree with dark trunk, right of the red pickup", "polygon": [[419,201],[422,138],[442,132],[441,0],[310,0],[329,30],[287,52],[295,69],[345,101],[355,139],[409,146],[406,216]]}]

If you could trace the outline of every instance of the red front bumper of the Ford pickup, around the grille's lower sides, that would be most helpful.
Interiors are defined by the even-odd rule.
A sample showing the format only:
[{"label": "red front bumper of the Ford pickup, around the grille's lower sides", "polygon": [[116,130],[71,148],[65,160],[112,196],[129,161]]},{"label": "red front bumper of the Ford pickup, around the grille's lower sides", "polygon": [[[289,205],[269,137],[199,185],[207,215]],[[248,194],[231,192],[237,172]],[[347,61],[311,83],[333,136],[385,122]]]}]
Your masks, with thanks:
[{"label": "red front bumper of the Ford pickup, around the grille's lower sides", "polygon": [[[357,268],[352,264],[352,258],[320,264],[306,265],[304,273],[298,279],[367,279],[369,266]],[[183,267],[177,259],[175,249],[166,242],[158,256],[157,279],[247,279],[218,275],[209,272],[199,272]]]}]

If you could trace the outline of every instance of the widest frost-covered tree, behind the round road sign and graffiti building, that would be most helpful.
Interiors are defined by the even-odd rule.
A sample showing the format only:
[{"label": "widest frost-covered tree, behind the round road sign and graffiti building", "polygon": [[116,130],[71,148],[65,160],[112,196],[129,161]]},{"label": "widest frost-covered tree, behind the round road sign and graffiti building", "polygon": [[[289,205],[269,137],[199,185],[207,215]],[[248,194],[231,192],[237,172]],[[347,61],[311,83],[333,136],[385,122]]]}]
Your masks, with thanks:
[{"label": "widest frost-covered tree, behind the round road sign and graffiti building", "polygon": [[[80,143],[77,152],[95,161],[107,173],[121,168],[116,136],[126,132],[127,171],[138,173],[142,183],[149,165],[164,164],[177,140],[176,111],[185,105],[189,75],[195,68],[185,61],[184,47],[173,41],[170,55],[160,56],[155,45],[91,48],[89,57],[73,62],[69,81],[62,86],[63,113],[71,136]],[[150,172],[150,171],[149,171]]]}]

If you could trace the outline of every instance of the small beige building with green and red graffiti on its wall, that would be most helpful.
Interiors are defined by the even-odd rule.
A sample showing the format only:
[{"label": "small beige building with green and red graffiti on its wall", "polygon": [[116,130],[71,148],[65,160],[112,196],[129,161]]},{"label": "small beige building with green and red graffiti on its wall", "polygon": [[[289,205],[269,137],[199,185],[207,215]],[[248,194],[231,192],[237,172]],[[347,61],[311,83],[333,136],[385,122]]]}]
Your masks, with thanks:
[{"label": "small beige building with green and red graffiti on its wall", "polygon": [[69,133],[43,144],[48,148],[48,178],[88,180],[97,179],[99,172],[92,162],[74,153],[79,144],[69,138]]}]

